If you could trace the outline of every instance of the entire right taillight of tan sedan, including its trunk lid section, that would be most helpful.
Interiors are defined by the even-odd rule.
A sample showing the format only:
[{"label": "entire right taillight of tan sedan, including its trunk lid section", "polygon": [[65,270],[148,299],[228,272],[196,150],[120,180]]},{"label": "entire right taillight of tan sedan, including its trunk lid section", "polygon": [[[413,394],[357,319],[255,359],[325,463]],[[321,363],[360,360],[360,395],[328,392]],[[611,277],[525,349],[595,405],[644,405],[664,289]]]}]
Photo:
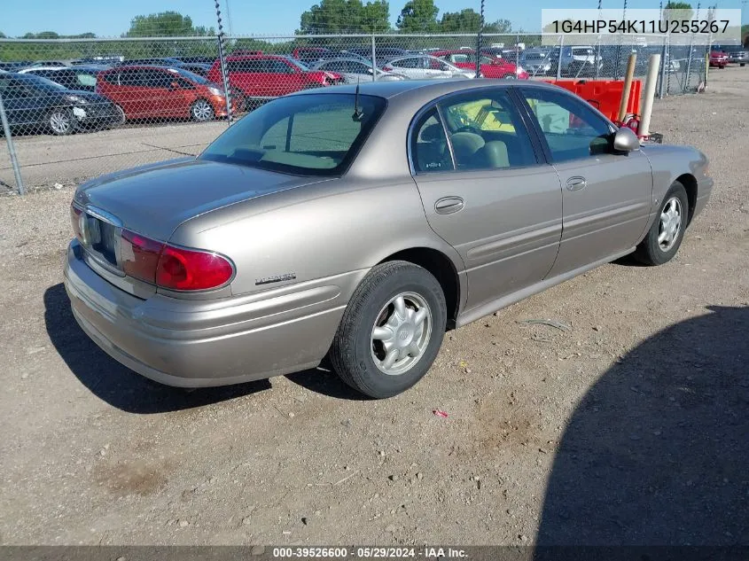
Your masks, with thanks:
[{"label": "entire right taillight of tan sedan, including its trunk lid section", "polygon": [[234,266],[221,255],[162,244],[129,230],[122,230],[120,254],[127,275],[170,290],[218,288],[234,275]]}]

